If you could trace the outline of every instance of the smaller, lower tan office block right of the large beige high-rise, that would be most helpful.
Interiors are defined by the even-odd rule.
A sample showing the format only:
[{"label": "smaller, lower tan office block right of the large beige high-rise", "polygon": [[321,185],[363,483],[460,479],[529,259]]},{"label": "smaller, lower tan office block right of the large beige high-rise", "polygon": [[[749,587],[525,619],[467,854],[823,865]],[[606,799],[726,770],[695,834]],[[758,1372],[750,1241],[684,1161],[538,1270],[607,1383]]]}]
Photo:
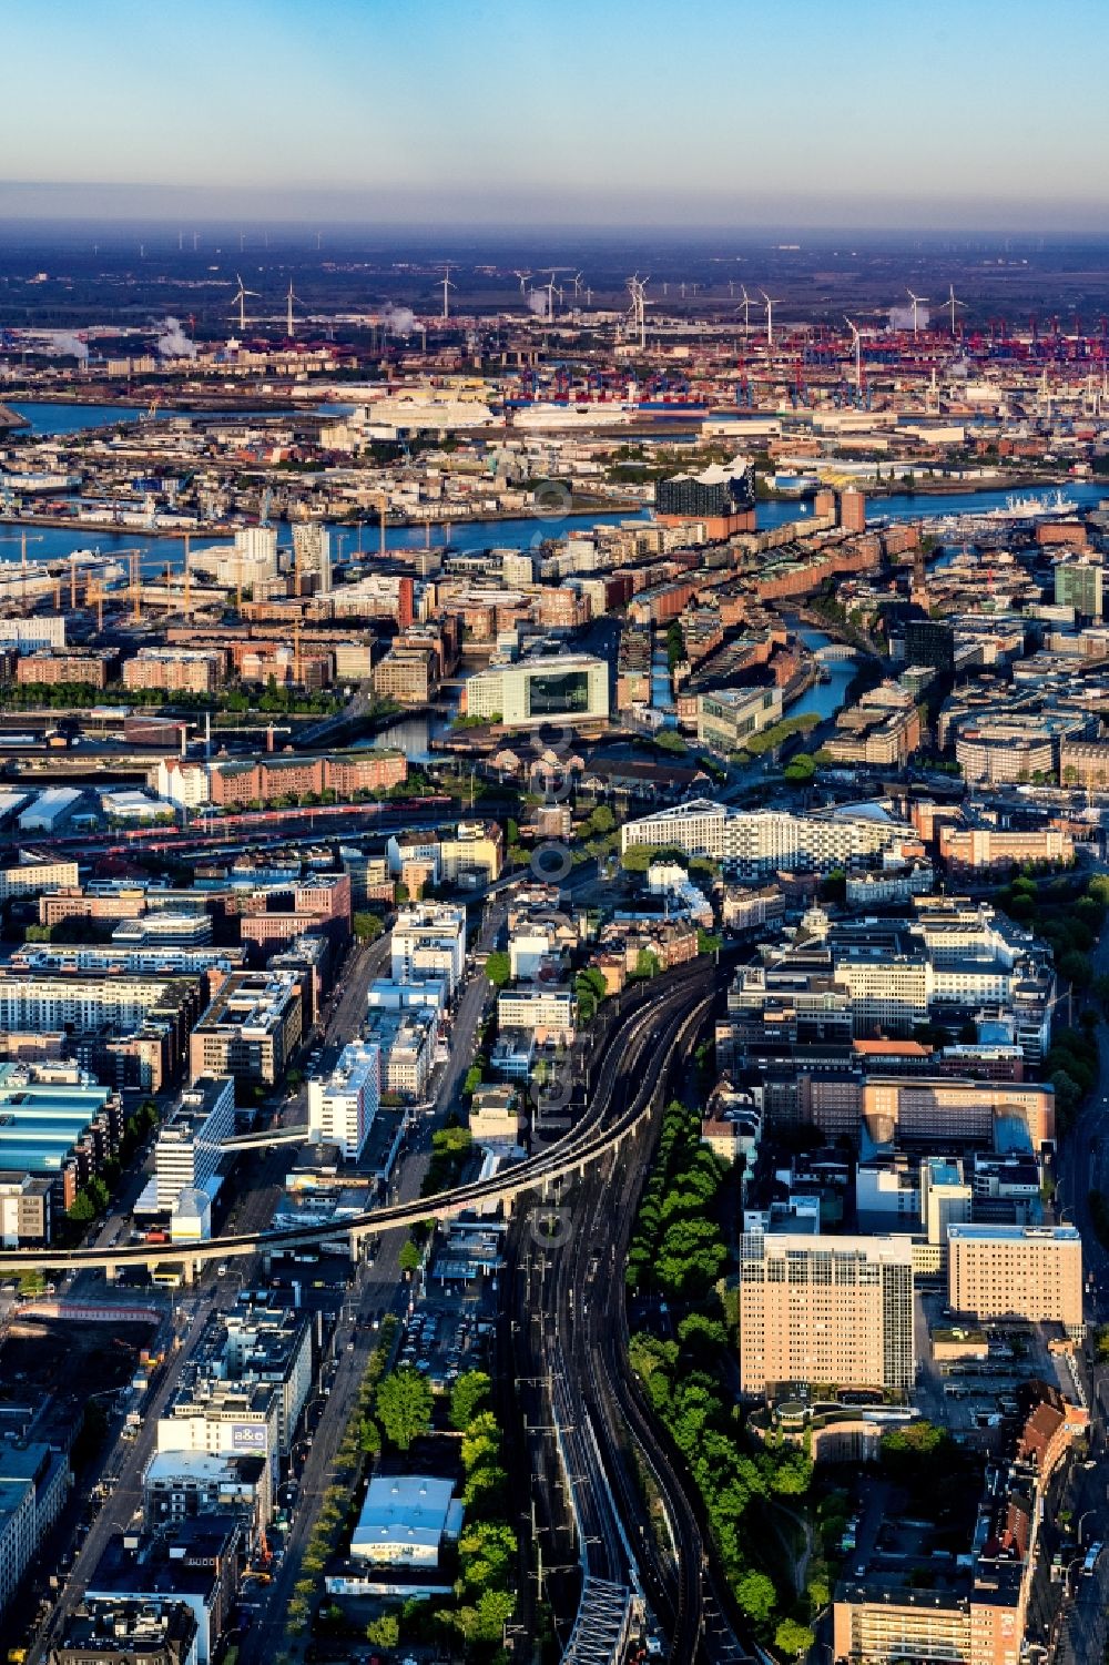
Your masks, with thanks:
[{"label": "smaller, lower tan office block right of the large beige high-rise", "polygon": [[1074,1225],[951,1225],[947,1304],[974,1319],[1082,1329],[1082,1239]]}]

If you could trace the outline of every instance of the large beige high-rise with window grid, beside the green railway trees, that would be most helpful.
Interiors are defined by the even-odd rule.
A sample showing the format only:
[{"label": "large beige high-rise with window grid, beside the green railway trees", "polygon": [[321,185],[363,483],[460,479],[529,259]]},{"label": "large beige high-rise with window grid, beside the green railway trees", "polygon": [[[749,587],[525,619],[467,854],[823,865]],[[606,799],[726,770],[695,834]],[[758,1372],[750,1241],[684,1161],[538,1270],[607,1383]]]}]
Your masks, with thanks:
[{"label": "large beige high-rise with window grid, beside the green railway trees", "polygon": [[913,1249],[908,1237],[744,1232],[739,1387],[834,1384],[911,1389]]}]

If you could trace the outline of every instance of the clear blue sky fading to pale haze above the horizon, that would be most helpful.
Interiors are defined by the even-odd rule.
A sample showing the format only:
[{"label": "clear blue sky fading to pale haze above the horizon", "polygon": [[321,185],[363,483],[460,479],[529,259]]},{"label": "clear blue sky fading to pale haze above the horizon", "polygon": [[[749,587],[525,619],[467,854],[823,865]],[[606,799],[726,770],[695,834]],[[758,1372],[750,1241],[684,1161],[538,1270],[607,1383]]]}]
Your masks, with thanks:
[{"label": "clear blue sky fading to pale haze above the horizon", "polygon": [[1109,0],[5,0],[0,28],[0,213],[1109,228]]}]

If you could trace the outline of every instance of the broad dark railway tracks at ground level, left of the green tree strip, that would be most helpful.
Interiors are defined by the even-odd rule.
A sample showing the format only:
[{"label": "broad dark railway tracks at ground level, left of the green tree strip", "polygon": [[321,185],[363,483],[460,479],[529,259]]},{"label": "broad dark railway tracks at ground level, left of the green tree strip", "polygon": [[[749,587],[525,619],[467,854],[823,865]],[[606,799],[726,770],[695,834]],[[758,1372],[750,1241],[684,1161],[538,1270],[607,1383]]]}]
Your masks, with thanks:
[{"label": "broad dark railway tracks at ground level, left of the green tree strip", "polygon": [[[669,1069],[691,1052],[711,997],[711,981],[688,979],[628,1051],[609,1049],[598,1096],[611,1096],[613,1124],[631,1121],[646,1134]],[[691,1665],[706,1658],[701,1532],[628,1382],[623,1267],[649,1146],[649,1137],[636,1139],[623,1147],[634,1152],[623,1169],[611,1156],[604,1170],[594,1167],[574,1187],[573,1230],[561,1250],[548,1252],[531,1242],[518,1255],[516,1372],[526,1384],[525,1415],[531,1414],[548,1437],[533,1449],[540,1505],[548,1515],[543,1530],[551,1543],[559,1543],[568,1528],[566,1518],[558,1518],[559,1510],[573,1517],[579,1587],[624,1587],[629,1598],[643,1598],[669,1637],[669,1658]],[[551,1454],[563,1474],[561,1487],[543,1472]],[[663,1542],[636,1464],[651,1477],[661,1502],[668,1533]],[[553,1583],[548,1578],[548,1588],[564,1622],[573,1600],[564,1568],[561,1578]]]}]

